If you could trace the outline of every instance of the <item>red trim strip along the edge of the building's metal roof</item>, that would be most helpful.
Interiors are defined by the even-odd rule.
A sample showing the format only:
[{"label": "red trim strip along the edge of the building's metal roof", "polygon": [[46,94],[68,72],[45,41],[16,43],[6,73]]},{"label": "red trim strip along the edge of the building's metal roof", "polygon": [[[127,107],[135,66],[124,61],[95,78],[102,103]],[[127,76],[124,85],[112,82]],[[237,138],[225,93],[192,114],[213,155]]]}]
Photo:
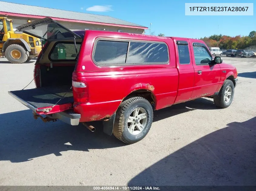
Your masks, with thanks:
[{"label": "red trim strip along the edge of the building's metal roof", "polygon": [[[26,17],[26,18],[37,18],[42,19],[45,16],[38,16],[38,15],[30,15],[30,14],[18,14],[18,13],[8,13],[8,12],[1,12],[0,14],[7,14],[8,16],[15,16],[15,17]],[[49,17],[56,21],[67,21],[67,22],[75,22],[75,23],[87,23],[87,24],[98,24],[98,25],[105,25],[105,26],[114,26],[114,27],[125,27],[125,28],[135,28],[135,29],[148,29],[148,27],[135,27],[135,26],[128,26],[128,25],[121,25],[121,24],[109,24],[109,23],[99,23],[99,22],[92,22],[92,21],[80,21],[80,20],[73,20],[73,19],[64,19],[64,18],[55,18]]]}]

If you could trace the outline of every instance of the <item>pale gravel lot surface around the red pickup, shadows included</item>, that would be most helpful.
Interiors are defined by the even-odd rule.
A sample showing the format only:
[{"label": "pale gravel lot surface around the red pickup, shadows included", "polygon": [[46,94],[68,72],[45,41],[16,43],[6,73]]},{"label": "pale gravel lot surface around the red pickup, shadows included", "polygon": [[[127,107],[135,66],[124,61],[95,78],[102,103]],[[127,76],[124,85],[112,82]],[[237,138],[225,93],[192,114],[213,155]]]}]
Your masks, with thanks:
[{"label": "pale gravel lot surface around the red pickup, shadows included", "polygon": [[146,138],[125,145],[101,125],[35,120],[7,93],[33,79],[33,62],[0,58],[0,185],[256,185],[256,60],[223,59],[239,73],[230,107],[201,98],[155,111]]}]

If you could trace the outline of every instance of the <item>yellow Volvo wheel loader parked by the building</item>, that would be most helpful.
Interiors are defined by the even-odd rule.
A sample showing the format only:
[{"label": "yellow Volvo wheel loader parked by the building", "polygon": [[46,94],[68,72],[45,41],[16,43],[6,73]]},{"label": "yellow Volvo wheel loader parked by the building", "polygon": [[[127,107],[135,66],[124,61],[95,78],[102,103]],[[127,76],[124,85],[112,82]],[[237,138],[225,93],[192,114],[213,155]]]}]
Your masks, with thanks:
[{"label": "yellow Volvo wheel loader parked by the building", "polygon": [[0,57],[5,56],[14,64],[28,62],[40,53],[40,39],[21,31],[14,31],[12,22],[6,17],[0,17]]}]

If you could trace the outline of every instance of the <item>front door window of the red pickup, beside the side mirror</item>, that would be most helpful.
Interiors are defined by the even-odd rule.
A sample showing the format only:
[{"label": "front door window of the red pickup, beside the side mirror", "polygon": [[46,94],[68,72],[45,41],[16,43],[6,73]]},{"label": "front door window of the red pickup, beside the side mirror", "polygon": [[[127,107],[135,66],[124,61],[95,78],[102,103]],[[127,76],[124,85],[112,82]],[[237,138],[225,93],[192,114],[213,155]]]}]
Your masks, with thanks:
[{"label": "front door window of the red pickup, beside the side mirror", "polygon": [[212,61],[211,54],[202,43],[193,43],[196,65],[209,64]]}]

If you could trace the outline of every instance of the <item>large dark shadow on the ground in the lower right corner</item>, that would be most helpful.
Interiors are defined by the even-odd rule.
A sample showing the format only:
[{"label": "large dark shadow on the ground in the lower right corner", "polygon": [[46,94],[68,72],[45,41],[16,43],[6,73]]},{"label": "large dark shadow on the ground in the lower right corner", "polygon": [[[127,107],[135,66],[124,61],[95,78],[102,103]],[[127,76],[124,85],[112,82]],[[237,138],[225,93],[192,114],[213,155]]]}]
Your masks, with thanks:
[{"label": "large dark shadow on the ground in the lower right corner", "polygon": [[256,117],[208,134],[135,176],[136,185],[256,185]]}]

